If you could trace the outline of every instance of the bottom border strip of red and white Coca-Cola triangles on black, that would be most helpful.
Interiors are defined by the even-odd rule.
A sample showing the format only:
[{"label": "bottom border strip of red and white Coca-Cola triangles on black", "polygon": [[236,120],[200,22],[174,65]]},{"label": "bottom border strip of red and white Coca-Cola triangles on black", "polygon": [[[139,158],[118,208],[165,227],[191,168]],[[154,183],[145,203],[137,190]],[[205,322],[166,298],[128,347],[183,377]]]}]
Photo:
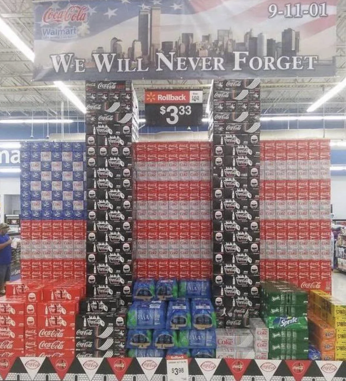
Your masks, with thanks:
[{"label": "bottom border strip of red and white Coca-Cola triangles on black", "polygon": [[[189,376],[198,380],[258,381],[346,379],[346,362],[308,360],[246,360],[246,359],[188,359]],[[0,380],[87,379],[112,376],[110,380],[127,381],[133,376],[145,376],[147,381],[163,379],[167,374],[166,359],[162,358],[0,358]],[[155,377],[154,377],[155,375]],[[125,376],[128,376],[127,378]],[[198,377],[198,378],[197,378]],[[202,379],[201,379],[202,377]]]}]

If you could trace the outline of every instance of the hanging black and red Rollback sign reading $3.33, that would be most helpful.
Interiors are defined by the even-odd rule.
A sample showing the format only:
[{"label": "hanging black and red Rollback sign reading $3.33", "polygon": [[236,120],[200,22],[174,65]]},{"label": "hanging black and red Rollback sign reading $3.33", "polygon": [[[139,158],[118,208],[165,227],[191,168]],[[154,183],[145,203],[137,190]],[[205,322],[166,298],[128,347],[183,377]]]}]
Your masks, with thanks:
[{"label": "hanging black and red Rollback sign reading $3.33", "polygon": [[195,127],[203,116],[203,92],[151,90],[145,92],[145,120],[153,127]]}]

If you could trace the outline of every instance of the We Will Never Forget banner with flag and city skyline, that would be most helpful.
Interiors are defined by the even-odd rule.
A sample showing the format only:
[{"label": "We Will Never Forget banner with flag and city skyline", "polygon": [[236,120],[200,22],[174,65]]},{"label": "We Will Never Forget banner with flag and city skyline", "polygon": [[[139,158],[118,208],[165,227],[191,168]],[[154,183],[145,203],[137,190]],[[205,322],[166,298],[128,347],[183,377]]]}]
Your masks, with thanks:
[{"label": "We Will Never Forget banner with flag and city skyline", "polygon": [[35,5],[36,80],[333,76],[335,55],[336,0]]}]

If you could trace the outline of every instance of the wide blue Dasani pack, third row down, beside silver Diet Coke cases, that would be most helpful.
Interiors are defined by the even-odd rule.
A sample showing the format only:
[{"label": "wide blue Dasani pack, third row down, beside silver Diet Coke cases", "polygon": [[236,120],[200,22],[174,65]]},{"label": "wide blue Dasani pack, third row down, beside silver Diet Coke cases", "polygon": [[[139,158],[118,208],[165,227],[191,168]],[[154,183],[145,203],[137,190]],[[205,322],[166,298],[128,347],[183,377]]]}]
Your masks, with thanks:
[{"label": "wide blue Dasani pack, third row down, beside silver Diet Coke cases", "polygon": [[216,348],[215,329],[179,331],[180,348]]}]

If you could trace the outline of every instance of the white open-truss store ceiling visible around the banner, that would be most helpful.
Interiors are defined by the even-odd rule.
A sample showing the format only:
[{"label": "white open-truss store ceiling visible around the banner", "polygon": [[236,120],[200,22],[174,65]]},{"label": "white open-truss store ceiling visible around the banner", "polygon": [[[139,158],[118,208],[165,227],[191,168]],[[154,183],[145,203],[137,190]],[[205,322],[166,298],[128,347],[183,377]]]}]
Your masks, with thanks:
[{"label": "white open-truss store ceiling visible around the banner", "polygon": [[[0,0],[0,16],[29,46],[33,46],[34,19],[30,0]],[[308,105],[319,98],[346,75],[346,0],[340,0],[337,20],[337,76],[321,78],[266,79],[262,81],[262,114],[305,113]],[[210,88],[206,80],[136,81],[140,108],[143,109],[145,88],[201,87],[206,99]],[[70,82],[71,90],[83,101],[83,82]],[[0,36],[0,115],[2,117],[61,113],[64,100],[65,113],[78,114],[75,107],[49,82],[32,81],[32,63]],[[335,96],[319,112],[346,113],[346,92]],[[80,117],[83,116],[80,114]]]}]

